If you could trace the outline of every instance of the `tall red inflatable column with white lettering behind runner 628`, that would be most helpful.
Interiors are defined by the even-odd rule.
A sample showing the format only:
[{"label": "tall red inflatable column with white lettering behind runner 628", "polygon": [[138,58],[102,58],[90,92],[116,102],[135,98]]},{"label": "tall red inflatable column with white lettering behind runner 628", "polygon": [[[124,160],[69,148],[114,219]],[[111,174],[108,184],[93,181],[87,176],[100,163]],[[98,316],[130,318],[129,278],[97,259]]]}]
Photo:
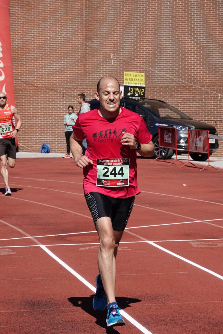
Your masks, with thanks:
[{"label": "tall red inflatable column with white lettering behind runner 628", "polygon": [[[0,92],[4,92],[7,95],[8,104],[15,106],[11,37],[9,26],[9,0],[1,1],[0,10]],[[16,136],[15,140],[17,146],[18,136]]]}]

